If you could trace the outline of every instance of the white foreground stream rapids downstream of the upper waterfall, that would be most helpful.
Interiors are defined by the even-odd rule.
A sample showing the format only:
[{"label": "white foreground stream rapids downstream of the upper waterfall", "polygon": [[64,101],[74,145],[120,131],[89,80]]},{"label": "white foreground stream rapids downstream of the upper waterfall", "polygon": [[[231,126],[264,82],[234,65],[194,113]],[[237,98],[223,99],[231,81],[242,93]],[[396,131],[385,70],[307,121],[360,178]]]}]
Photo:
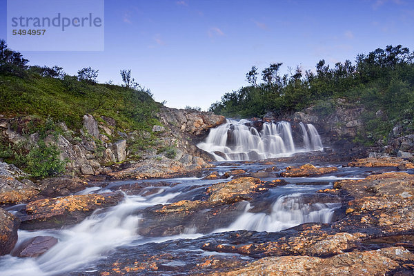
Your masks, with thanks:
[{"label": "white foreground stream rapids downstream of the upper waterfall", "polygon": [[[226,167],[222,170],[226,170]],[[304,196],[313,195],[321,188],[331,187],[332,181],[346,178],[352,177],[325,177],[323,182],[315,185],[306,184],[306,180],[312,179],[301,179],[305,185],[289,184],[270,189],[263,195],[264,201],[268,202],[266,204],[268,208],[255,212],[252,210],[253,206],[248,201],[244,201],[239,209],[239,215],[224,224],[215,225],[215,230],[211,233],[243,229],[277,232],[305,222],[329,222],[340,204],[335,200],[331,203],[309,203],[304,200]],[[148,197],[126,195],[124,201],[117,206],[108,208],[104,212],[97,211],[75,226],[61,230],[19,230],[17,246],[26,239],[37,236],[53,236],[59,239],[59,242],[37,258],[19,258],[10,255],[0,257],[1,275],[65,275],[68,271],[90,267],[90,264],[105,258],[120,246],[140,246],[149,242],[159,243],[170,239],[196,239],[206,235],[199,233],[196,223],[193,227],[186,228],[181,235],[141,237],[137,234],[141,219],[139,210],[183,199],[194,200],[206,185],[228,180],[230,179],[212,181],[195,177],[163,179],[166,186],[157,187],[157,193]],[[171,187],[168,185],[169,182],[179,182],[179,184]],[[128,181],[116,181],[105,188],[88,188],[82,193],[117,190],[117,186],[126,183]],[[154,188],[150,181],[148,181],[148,188]]]}]

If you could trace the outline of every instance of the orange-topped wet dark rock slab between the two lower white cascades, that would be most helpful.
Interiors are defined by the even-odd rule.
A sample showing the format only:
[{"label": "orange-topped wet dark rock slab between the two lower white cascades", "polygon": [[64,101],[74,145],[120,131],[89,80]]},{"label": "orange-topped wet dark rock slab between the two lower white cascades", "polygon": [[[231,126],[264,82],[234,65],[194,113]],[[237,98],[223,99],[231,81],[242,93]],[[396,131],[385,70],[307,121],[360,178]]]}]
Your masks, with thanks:
[{"label": "orange-topped wet dark rock slab between the two lower white cascades", "polygon": [[234,217],[241,215],[246,200],[259,205],[255,199],[259,200],[260,194],[279,185],[286,185],[286,182],[240,177],[209,187],[201,186],[198,189],[204,197],[200,199],[181,200],[164,206],[156,205],[139,213],[139,235],[179,235],[192,228],[196,228],[197,233],[210,233],[219,226],[230,225]]}]

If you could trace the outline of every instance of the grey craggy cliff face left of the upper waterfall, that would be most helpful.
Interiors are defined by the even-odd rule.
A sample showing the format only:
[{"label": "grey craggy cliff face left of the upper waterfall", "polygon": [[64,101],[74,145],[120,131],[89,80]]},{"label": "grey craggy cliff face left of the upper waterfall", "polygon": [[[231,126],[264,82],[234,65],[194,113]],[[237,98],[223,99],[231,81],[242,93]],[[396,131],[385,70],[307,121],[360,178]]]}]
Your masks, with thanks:
[{"label": "grey craggy cliff face left of the upper waterfall", "polygon": [[[161,125],[153,126],[152,132],[138,132],[123,130],[110,117],[87,114],[83,116],[80,130],[69,130],[64,123],[58,123],[59,132],[49,134],[45,139],[39,137],[39,132],[25,134],[21,125],[30,124],[32,117],[1,117],[0,136],[3,142],[23,145],[27,150],[39,139],[48,145],[56,145],[61,152],[60,159],[68,161],[66,172],[71,175],[160,177],[163,173],[208,166],[206,161],[213,159],[207,152],[199,150],[192,140],[224,123],[223,116],[164,107],[157,117]],[[124,162],[125,166],[111,166]],[[115,173],[114,168],[128,168],[128,171]]]}]

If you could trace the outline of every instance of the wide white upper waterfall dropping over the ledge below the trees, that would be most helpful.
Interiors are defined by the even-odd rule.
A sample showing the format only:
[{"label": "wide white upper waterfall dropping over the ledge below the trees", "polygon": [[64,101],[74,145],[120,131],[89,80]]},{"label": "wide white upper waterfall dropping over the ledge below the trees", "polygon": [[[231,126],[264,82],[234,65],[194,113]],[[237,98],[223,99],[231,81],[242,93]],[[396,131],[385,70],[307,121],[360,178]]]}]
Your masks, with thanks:
[{"label": "wide white upper waterfall dropping over the ledge below the trees", "polygon": [[299,124],[304,145],[297,147],[288,122],[265,122],[260,132],[248,126],[249,123],[245,119],[227,119],[226,124],[211,129],[206,140],[197,146],[210,152],[217,161],[259,160],[323,149],[321,138],[312,124]]}]

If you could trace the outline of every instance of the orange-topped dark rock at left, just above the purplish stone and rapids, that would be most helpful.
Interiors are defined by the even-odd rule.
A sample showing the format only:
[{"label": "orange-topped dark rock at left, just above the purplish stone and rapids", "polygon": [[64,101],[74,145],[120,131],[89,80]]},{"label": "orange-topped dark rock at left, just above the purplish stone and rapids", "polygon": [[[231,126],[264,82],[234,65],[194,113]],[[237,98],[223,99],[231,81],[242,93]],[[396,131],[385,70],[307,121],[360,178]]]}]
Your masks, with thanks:
[{"label": "orange-topped dark rock at left, just above the purplish stone and rapids", "polygon": [[123,199],[121,193],[70,195],[52,199],[39,199],[26,206],[21,217],[23,229],[54,228],[76,224],[94,210],[115,206]]}]

